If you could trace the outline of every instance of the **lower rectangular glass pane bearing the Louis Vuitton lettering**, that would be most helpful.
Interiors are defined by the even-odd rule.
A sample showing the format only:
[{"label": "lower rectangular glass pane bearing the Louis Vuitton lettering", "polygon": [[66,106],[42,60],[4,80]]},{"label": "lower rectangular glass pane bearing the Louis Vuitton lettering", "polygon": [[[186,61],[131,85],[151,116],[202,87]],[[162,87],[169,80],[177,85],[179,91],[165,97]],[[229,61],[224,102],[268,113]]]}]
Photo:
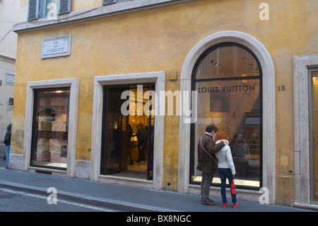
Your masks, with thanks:
[{"label": "lower rectangular glass pane bearing the Louis Vuitton lettering", "polygon": [[[201,181],[196,170],[197,143],[207,125],[214,124],[230,137],[237,186],[260,186],[261,172],[261,96],[259,79],[197,81],[198,119],[194,137],[192,181]],[[218,175],[213,183],[220,183]]]}]

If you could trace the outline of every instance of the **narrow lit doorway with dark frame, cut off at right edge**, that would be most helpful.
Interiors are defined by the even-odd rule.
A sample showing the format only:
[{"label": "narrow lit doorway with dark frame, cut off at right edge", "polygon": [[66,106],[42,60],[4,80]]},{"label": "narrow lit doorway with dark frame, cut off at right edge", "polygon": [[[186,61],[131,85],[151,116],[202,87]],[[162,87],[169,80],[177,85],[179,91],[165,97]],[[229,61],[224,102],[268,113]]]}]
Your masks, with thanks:
[{"label": "narrow lit doorway with dark frame, cut off at right edge", "polygon": [[318,70],[310,71],[310,171],[311,171],[311,191],[312,203],[318,203]]}]

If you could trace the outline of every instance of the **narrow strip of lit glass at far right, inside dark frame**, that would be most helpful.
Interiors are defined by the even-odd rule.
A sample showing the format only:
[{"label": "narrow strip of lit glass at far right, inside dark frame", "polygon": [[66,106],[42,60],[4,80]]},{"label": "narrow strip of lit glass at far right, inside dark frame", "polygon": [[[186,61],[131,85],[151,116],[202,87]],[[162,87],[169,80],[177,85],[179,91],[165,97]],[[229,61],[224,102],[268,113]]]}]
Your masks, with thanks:
[{"label": "narrow strip of lit glass at far right, inside dark frame", "polygon": [[[318,72],[312,72],[317,74]],[[313,129],[312,129],[312,140],[313,140],[313,152],[312,152],[312,171],[313,171],[313,200],[318,202],[318,76],[312,77],[312,118],[313,118]]]}]

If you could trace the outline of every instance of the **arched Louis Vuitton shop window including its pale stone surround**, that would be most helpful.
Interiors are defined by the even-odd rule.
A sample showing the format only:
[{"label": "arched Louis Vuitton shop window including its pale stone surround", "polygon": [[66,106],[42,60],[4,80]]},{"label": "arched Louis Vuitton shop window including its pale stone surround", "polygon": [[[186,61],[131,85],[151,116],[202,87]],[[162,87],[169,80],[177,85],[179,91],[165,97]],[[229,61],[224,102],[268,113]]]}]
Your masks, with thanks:
[{"label": "arched Louis Vuitton shop window including its pale stone surround", "polygon": [[[274,130],[265,132],[275,122],[274,108],[269,102],[275,92],[269,89],[269,83],[274,83],[271,69],[273,62],[264,46],[245,33],[216,33],[192,49],[184,62],[182,84],[197,92],[197,113],[195,122],[189,125],[182,124],[187,118],[180,118],[184,130],[180,129],[179,150],[189,149],[189,152],[184,151],[189,157],[182,158],[184,153],[179,157],[189,162],[189,174],[179,171],[180,179],[184,179],[179,181],[179,191],[199,193],[196,185],[201,182],[201,171],[196,170],[196,148],[206,125],[212,123],[230,137],[237,188],[249,196],[254,193],[255,198],[264,186],[273,190],[275,181],[267,167],[273,164],[274,158],[269,159],[273,155],[269,154],[271,149],[268,147],[275,144],[275,137]],[[187,76],[191,80],[187,80]],[[269,110],[273,112],[266,113]],[[182,139],[184,131],[191,137],[190,142]],[[218,186],[220,179],[216,175],[213,187]]]}]

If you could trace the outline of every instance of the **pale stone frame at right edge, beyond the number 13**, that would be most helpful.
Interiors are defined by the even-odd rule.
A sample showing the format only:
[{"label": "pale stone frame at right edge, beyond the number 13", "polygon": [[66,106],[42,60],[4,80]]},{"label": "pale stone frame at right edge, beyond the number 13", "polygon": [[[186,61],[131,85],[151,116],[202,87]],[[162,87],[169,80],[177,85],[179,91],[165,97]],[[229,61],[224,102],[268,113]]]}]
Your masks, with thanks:
[{"label": "pale stone frame at right edge, beyond the number 13", "polygon": [[311,204],[310,180],[310,69],[318,67],[318,54],[293,57],[295,206]]}]

